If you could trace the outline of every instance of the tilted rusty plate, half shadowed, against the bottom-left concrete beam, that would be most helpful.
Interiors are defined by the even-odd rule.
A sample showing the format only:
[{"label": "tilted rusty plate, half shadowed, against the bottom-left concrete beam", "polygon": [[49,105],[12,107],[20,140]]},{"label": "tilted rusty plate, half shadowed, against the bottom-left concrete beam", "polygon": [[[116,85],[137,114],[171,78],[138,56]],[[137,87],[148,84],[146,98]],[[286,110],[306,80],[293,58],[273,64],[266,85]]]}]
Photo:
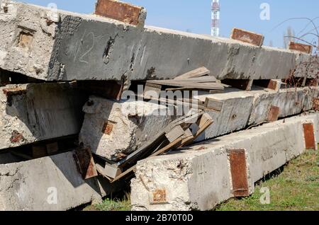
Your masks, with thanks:
[{"label": "tilted rusty plate, half shadowed, against the bottom-left concrete beam", "polygon": [[94,163],[94,158],[89,149],[78,149],[74,151],[74,160],[77,169],[82,174],[83,179],[94,178],[98,175]]}]

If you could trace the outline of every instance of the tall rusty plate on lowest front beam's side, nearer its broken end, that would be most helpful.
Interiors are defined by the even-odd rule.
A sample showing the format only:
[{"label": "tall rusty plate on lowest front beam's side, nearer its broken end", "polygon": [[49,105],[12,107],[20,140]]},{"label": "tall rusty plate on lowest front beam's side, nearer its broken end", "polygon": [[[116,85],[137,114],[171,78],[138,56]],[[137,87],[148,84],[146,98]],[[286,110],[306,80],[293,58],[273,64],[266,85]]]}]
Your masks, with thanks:
[{"label": "tall rusty plate on lowest front beam's side, nearer its broken end", "polygon": [[249,195],[247,162],[244,149],[228,150],[230,154],[230,171],[233,180],[233,195],[244,197]]}]

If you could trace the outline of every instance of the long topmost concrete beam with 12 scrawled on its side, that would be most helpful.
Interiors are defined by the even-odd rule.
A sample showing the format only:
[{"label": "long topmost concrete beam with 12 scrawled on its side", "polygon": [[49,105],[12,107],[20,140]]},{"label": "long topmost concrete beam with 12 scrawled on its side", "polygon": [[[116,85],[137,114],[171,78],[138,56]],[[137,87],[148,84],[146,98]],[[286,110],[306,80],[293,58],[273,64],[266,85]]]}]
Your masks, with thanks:
[{"label": "long topmost concrete beam with 12 scrawled on its side", "polygon": [[304,60],[290,50],[1,2],[0,68],[37,79],[172,79],[203,66],[218,79],[284,79]]}]

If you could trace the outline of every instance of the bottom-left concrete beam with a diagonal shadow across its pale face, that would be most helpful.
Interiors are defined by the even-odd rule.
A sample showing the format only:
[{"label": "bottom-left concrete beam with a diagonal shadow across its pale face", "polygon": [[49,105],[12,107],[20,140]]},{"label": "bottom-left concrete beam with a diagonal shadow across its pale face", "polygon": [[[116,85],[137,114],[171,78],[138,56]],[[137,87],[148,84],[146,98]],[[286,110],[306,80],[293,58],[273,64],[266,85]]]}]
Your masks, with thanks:
[{"label": "bottom-left concrete beam with a diagonal shadow across its pale face", "polygon": [[67,210],[101,200],[115,187],[103,183],[101,189],[101,183],[96,178],[83,180],[77,170],[73,152],[2,164],[0,210]]}]

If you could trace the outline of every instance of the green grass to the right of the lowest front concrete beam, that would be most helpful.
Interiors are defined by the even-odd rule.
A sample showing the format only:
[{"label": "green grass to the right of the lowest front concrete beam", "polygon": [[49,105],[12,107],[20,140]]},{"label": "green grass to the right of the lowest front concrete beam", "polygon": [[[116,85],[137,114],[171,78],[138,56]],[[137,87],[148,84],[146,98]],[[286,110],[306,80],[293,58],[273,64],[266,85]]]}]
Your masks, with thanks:
[{"label": "green grass to the right of the lowest front concrete beam", "polygon": [[[319,153],[308,150],[291,161],[281,173],[257,184],[250,197],[232,199],[217,211],[305,211],[319,210]],[[269,188],[270,204],[261,204],[261,188]]]}]

